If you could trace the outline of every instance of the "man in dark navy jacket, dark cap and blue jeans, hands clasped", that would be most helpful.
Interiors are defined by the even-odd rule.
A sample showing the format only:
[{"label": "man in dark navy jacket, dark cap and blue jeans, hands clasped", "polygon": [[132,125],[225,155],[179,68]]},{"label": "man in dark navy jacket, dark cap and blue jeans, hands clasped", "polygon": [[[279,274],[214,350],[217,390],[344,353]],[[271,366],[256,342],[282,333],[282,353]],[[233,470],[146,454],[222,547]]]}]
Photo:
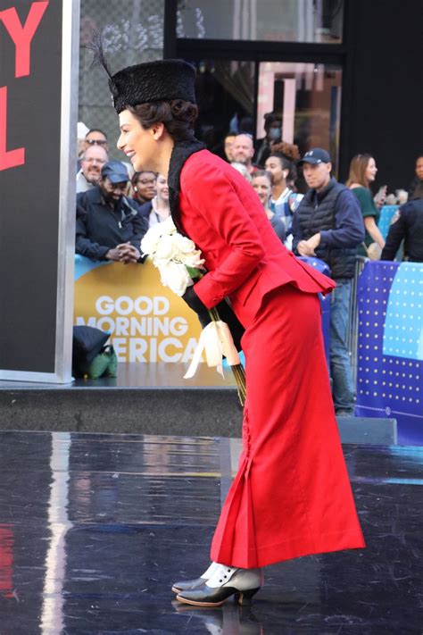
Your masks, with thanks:
[{"label": "man in dark navy jacket, dark cap and blue jeans, hands clasped", "polygon": [[357,246],[364,240],[364,223],[356,196],[330,176],[326,150],[313,148],[303,164],[309,191],[294,213],[293,249],[328,263],[336,280],[330,305],[330,374],[337,415],[353,416],[355,389],[346,347],[348,315]]}]

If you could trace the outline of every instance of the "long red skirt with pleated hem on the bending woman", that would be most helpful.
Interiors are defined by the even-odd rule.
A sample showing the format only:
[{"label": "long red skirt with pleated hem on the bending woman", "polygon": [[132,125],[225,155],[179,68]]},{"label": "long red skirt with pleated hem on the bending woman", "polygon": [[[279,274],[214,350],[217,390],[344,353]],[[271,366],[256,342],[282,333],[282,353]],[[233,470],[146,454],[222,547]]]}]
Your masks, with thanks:
[{"label": "long red skirt with pleated hem on the bending woman", "polygon": [[319,297],[267,294],[247,324],[243,452],[211,560],[250,568],[365,547],[336,425]]}]

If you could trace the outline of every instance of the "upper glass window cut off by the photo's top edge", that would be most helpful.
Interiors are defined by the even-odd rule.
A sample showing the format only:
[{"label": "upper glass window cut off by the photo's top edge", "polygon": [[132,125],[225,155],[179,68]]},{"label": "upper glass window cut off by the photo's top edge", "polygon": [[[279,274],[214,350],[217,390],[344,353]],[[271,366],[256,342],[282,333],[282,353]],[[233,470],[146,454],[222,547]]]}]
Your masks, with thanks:
[{"label": "upper glass window cut off by the photo's top edge", "polygon": [[179,0],[178,38],[342,42],[344,0]]}]

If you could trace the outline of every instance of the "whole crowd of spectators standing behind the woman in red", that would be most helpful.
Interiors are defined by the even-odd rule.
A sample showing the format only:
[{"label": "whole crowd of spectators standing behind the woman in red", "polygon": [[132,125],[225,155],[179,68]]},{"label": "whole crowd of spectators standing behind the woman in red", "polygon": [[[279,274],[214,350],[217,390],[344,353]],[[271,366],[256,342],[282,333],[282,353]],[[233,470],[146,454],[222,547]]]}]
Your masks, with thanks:
[{"label": "whole crowd of spectators standing behind the woman in red", "polygon": [[[81,124],[79,124],[81,125]],[[352,158],[345,185],[332,175],[322,148],[301,157],[297,146],[281,138],[277,114],[265,116],[266,136],[254,142],[247,133],[228,135],[222,148],[228,163],[253,187],[279,240],[294,255],[327,263],[336,280],[330,312],[330,374],[338,415],[352,415],[354,386],[346,347],[348,315],[356,256],[423,262],[423,155],[407,200],[401,192],[398,212],[387,237],[377,223],[386,204],[386,186],[374,196],[375,158]],[[170,214],[165,177],[135,172],[129,163],[110,161],[102,130],[81,128],[77,173],[76,252],[91,260],[142,263],[140,241]],[[250,186],[251,184],[251,186]],[[401,198],[402,197],[402,198]],[[212,210],[211,210],[212,213]]]}]

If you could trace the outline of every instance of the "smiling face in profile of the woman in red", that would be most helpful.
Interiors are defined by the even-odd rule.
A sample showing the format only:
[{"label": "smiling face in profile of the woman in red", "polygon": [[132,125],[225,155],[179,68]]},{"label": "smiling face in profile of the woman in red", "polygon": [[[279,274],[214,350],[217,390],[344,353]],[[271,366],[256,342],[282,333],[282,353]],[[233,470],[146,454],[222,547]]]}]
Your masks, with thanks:
[{"label": "smiling face in profile of the woman in red", "polygon": [[120,138],[118,148],[128,156],[137,172],[157,171],[157,141],[154,127],[145,130],[129,110],[119,115]]}]

